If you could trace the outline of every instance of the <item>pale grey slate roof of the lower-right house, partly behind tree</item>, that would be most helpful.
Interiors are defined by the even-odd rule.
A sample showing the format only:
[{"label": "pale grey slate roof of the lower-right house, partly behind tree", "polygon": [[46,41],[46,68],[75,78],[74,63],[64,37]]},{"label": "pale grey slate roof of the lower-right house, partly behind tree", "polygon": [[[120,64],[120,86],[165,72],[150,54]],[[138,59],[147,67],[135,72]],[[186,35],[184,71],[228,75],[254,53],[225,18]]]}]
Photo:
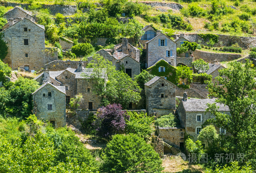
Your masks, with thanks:
[{"label": "pale grey slate roof of the lower-right house, partly behind tree", "polygon": [[[207,103],[216,103],[216,99],[188,99],[182,101],[183,107],[186,112],[204,112],[208,108]],[[219,106],[218,111],[229,111],[229,107],[221,103],[216,103]]]}]

